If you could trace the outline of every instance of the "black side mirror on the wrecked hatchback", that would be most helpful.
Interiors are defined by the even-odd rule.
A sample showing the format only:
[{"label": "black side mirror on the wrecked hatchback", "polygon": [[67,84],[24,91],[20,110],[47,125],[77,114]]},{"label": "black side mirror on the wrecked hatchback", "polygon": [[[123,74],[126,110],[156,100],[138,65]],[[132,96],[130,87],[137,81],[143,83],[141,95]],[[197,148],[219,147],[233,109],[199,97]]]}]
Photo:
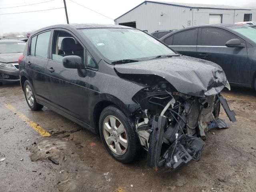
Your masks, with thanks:
[{"label": "black side mirror on the wrecked hatchback", "polygon": [[62,59],[64,68],[70,69],[85,69],[82,58],[76,55],[64,56]]}]

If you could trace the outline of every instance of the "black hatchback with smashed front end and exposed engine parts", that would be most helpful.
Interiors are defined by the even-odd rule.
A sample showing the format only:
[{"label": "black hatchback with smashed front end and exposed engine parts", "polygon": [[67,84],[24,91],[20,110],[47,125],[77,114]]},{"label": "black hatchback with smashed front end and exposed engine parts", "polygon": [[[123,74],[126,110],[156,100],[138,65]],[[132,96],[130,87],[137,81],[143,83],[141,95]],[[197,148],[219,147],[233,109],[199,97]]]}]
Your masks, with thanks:
[{"label": "black hatchback with smashed front end and exposed engine parts", "polygon": [[152,168],[199,160],[205,132],[227,128],[220,66],[181,56],[126,26],[55,25],[34,32],[20,58],[20,83],[31,110],[43,106],[100,133],[120,162],[142,148]]}]

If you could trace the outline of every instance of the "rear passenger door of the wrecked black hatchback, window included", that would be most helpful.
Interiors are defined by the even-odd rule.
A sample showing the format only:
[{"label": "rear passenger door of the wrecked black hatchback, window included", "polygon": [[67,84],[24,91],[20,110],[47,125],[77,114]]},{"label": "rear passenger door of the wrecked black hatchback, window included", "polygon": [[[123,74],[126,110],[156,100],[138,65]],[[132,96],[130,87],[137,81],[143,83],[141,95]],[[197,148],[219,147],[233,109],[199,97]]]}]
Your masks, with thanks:
[{"label": "rear passenger door of the wrecked black hatchback, window included", "polygon": [[49,100],[45,70],[48,62],[50,36],[51,31],[49,30],[30,39],[29,54],[25,64],[36,99],[44,102]]}]

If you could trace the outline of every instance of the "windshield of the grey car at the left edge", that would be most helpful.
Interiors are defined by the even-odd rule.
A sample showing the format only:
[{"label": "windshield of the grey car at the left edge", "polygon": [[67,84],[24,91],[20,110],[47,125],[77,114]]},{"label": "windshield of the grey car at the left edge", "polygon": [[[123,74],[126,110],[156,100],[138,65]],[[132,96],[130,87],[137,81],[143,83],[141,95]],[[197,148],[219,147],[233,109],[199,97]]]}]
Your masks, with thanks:
[{"label": "windshield of the grey car at the left edge", "polygon": [[24,52],[25,42],[0,42],[0,53]]}]

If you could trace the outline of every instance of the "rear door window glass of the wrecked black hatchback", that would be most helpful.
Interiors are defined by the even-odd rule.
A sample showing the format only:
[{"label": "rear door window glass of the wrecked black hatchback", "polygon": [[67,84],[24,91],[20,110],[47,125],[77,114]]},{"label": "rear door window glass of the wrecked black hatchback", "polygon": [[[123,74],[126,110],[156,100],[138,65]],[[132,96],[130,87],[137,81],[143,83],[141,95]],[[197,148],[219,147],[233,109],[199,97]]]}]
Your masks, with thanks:
[{"label": "rear door window glass of the wrecked black hatchback", "polygon": [[37,36],[36,51],[35,51],[36,57],[47,58],[50,34],[51,32],[48,31],[48,32],[41,33]]}]

